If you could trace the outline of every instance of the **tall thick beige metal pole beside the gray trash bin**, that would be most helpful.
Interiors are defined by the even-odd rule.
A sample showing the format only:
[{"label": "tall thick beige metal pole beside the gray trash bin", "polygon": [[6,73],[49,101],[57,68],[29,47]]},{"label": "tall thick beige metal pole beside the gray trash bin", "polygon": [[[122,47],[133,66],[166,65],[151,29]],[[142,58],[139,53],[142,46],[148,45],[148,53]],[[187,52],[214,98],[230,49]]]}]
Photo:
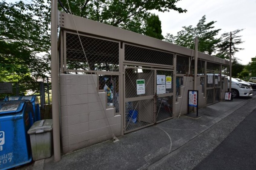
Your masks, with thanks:
[{"label": "tall thick beige metal pole beside the gray trash bin", "polygon": [[57,61],[57,0],[51,0],[51,89],[54,161],[61,160]]}]

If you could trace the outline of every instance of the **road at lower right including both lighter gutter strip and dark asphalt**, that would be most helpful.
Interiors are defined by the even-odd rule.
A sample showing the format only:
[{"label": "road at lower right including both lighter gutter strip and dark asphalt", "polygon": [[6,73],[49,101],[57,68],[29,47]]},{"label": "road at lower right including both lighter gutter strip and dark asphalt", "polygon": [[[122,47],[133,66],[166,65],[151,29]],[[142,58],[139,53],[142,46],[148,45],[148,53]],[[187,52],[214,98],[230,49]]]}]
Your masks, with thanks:
[{"label": "road at lower right including both lighter gutter strip and dark asphalt", "polygon": [[256,98],[234,100],[250,101],[148,169],[256,169]]}]

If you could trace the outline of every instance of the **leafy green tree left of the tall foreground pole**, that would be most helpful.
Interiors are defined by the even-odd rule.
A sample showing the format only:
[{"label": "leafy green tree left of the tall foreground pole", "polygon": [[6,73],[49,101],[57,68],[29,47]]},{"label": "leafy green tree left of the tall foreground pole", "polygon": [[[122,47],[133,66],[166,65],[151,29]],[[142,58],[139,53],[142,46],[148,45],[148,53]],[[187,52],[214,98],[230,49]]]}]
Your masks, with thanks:
[{"label": "leafy green tree left of the tall foreground pole", "polygon": [[0,2],[0,81],[36,81],[49,71],[49,5]]}]

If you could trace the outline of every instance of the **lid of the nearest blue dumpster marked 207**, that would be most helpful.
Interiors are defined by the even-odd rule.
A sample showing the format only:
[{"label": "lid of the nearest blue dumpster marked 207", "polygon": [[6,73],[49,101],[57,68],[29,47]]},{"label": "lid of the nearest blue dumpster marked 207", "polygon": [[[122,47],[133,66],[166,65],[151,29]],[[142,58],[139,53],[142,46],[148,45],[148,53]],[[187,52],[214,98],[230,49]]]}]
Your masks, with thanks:
[{"label": "lid of the nearest blue dumpster marked 207", "polygon": [[[21,103],[24,104],[24,101],[7,101],[7,102],[1,102],[0,103],[0,114],[6,114],[9,112],[18,112],[21,109],[18,109]],[[23,104],[21,105],[21,108],[23,107]]]}]

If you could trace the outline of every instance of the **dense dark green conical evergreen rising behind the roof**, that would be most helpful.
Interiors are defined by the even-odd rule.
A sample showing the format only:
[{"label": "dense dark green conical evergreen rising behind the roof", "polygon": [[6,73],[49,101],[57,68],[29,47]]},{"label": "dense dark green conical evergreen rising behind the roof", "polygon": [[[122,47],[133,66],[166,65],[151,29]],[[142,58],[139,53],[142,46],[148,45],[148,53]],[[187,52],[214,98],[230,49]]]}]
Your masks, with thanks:
[{"label": "dense dark green conical evergreen rising behind the roof", "polygon": [[164,39],[162,36],[161,21],[159,20],[158,15],[151,14],[147,19],[145,35],[159,40]]}]

